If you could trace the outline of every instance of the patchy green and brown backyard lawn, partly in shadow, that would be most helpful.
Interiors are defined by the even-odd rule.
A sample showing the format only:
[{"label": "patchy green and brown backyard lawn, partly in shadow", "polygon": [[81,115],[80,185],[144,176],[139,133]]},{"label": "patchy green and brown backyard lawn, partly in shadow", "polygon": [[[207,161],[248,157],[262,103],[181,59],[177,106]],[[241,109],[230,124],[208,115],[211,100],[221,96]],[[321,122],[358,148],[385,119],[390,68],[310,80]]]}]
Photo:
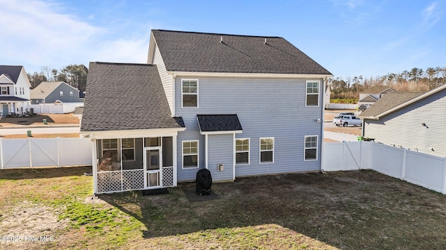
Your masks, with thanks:
[{"label": "patchy green and brown backyard lawn, partly in shadow", "polygon": [[[15,249],[443,249],[446,198],[372,171],[214,183],[219,199],[104,194],[88,167],[0,170],[0,232]],[[30,237],[47,236],[30,242]],[[50,238],[49,238],[50,237]],[[48,240],[49,239],[49,240]]]}]

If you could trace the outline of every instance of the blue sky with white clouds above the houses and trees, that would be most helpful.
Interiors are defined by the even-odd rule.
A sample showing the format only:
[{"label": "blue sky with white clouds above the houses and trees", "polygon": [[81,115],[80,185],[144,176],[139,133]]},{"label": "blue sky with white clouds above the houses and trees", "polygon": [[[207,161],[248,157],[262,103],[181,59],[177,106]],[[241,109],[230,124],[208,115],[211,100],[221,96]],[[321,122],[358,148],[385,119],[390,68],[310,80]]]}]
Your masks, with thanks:
[{"label": "blue sky with white clouds above the houses and trees", "polygon": [[0,0],[1,65],[146,63],[153,28],[279,36],[334,77],[446,67],[446,1]]}]

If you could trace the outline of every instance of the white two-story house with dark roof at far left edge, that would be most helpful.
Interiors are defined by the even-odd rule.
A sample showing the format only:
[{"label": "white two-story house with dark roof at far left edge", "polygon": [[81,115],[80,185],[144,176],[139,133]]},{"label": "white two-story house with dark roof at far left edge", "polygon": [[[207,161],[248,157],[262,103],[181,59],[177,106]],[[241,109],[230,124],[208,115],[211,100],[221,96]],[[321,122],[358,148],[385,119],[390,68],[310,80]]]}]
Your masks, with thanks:
[{"label": "white two-story house with dark roof at far left edge", "polygon": [[29,83],[23,66],[0,65],[0,114],[24,115],[29,112]]}]

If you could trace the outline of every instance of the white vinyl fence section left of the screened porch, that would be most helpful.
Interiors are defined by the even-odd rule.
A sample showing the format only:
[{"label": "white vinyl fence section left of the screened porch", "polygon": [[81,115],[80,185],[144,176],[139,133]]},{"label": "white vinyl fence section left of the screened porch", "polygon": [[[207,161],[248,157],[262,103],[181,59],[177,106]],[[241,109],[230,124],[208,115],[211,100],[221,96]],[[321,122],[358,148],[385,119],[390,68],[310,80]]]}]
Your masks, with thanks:
[{"label": "white vinyl fence section left of the screened porch", "polygon": [[1,169],[91,165],[86,138],[0,139]]}]

